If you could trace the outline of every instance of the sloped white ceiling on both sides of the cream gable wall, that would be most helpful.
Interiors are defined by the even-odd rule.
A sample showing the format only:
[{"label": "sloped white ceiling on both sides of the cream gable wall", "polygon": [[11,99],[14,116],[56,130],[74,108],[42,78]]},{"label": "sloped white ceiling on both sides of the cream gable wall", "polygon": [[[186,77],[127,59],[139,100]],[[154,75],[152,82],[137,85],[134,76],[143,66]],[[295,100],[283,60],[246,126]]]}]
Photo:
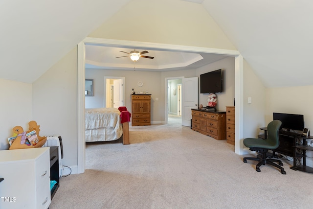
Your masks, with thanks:
[{"label": "sloped white ceiling on both sides of the cream gable wall", "polygon": [[[131,1],[1,0],[0,78],[33,82]],[[266,87],[312,85],[313,1],[189,1],[201,3]]]}]

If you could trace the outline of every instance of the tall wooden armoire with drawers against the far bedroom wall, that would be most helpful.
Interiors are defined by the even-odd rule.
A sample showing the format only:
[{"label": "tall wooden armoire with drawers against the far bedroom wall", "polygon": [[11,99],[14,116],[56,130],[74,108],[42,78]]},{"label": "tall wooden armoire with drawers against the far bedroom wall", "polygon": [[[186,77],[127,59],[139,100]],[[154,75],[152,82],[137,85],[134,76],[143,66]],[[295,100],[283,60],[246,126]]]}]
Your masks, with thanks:
[{"label": "tall wooden armoire with drawers against the far bedroom wall", "polygon": [[132,126],[151,125],[151,94],[132,94]]}]

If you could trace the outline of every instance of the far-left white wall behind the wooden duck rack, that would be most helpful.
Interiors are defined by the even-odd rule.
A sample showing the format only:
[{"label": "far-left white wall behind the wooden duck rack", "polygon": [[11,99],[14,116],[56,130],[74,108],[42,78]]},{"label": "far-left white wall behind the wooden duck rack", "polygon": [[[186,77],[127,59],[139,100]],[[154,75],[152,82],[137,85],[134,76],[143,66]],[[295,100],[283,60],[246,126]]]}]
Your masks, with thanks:
[{"label": "far-left white wall behind the wooden duck rack", "polygon": [[28,130],[32,120],[32,85],[0,79],[0,150],[8,149],[15,126]]}]

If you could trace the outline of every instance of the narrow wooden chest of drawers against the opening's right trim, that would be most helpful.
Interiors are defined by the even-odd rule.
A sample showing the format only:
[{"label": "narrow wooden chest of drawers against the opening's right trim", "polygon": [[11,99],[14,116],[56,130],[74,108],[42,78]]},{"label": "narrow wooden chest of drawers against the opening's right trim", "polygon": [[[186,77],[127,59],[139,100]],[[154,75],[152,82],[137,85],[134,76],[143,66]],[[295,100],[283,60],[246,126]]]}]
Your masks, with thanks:
[{"label": "narrow wooden chest of drawers against the opening's right trim", "polygon": [[235,145],[235,107],[226,107],[226,141]]}]

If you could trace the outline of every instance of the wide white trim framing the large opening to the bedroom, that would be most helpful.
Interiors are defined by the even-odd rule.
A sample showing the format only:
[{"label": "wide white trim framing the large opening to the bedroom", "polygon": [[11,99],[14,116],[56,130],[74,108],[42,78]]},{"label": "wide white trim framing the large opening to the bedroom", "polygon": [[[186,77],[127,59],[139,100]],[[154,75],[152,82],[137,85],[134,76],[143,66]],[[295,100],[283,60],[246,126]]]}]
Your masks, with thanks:
[{"label": "wide white trim framing the large opening to the bedroom", "polygon": [[[115,46],[115,47],[144,47],[146,49],[176,50],[185,52],[203,52],[222,54],[235,58],[235,153],[244,154],[243,145],[243,109],[244,109],[244,58],[237,50],[222,48],[207,48],[200,46],[182,46],[136,42],[127,40],[113,40],[87,37],[77,45],[77,172],[85,172],[85,64],[86,44]],[[166,88],[167,89],[167,88]],[[167,95],[167,93],[166,93]],[[165,117],[167,121],[167,117]],[[246,152],[247,153],[247,152]]]}]

